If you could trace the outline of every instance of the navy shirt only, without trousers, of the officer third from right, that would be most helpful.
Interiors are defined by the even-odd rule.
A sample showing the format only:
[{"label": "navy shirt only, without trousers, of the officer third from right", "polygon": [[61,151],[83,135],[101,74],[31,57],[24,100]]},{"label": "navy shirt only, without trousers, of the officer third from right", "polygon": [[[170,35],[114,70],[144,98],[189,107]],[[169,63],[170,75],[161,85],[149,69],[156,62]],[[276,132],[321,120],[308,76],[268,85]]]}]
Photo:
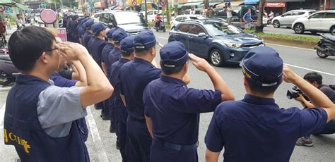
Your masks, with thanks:
[{"label": "navy shirt only, without trousers, of the officer third from right", "polygon": [[127,112],[132,118],[144,120],[143,90],[160,77],[161,70],[141,58],[125,63],[120,72],[120,94],[125,96]]}]

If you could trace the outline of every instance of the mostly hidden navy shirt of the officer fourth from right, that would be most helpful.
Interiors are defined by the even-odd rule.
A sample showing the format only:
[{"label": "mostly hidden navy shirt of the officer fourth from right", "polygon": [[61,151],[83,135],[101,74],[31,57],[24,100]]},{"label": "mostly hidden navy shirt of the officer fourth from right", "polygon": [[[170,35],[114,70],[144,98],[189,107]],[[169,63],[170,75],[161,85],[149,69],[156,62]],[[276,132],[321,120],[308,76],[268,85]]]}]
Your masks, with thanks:
[{"label": "mostly hidden navy shirt of the officer fourth from right", "polygon": [[124,65],[124,63],[129,62],[126,58],[120,58],[119,61],[113,63],[113,65],[110,67],[110,75],[108,79],[110,80],[110,84],[114,87],[114,92],[112,94],[112,98],[117,101],[117,103],[114,104],[122,104],[122,99],[120,96],[120,85],[119,85],[119,74],[120,69]]}]

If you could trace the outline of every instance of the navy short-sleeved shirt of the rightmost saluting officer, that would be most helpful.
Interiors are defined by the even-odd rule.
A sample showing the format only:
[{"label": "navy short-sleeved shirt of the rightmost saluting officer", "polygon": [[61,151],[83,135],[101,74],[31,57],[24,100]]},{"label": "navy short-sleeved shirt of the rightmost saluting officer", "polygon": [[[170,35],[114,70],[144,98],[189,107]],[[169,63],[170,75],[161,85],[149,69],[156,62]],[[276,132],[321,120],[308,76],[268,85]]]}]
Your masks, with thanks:
[{"label": "navy short-sleeved shirt of the rightmost saluting officer", "polygon": [[224,161],[289,161],[297,139],[322,131],[326,122],[322,108],[281,109],[274,99],[246,94],[216,108],[205,143],[213,152],[224,146]]}]

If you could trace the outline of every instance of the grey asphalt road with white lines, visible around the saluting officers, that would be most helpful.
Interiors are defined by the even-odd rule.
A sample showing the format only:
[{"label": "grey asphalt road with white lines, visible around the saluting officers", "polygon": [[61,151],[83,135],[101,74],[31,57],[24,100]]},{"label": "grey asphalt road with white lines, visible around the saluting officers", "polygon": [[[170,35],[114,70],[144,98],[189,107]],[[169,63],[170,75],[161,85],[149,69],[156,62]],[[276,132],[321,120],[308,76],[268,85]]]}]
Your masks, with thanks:
[{"label": "grey asphalt road with white lines, visible around the saluting officers", "polygon": [[[168,33],[155,32],[158,42],[161,44],[167,43]],[[310,49],[299,49],[292,48],[288,46],[278,46],[275,44],[267,44],[268,46],[276,49],[283,61],[291,66],[291,68],[298,73],[298,75],[305,75],[305,73],[311,70],[318,71],[322,73],[324,77],[324,83],[335,84],[335,73],[334,73],[334,63],[335,57],[331,58],[318,58],[314,50]],[[157,47],[157,52],[159,52],[159,47]],[[156,57],[156,61],[159,61],[159,54]],[[218,73],[225,79],[230,88],[233,90],[236,99],[242,99],[245,95],[245,89],[242,86],[242,71],[238,66],[228,66],[224,68],[215,68]],[[191,78],[191,83],[189,87],[199,88],[199,89],[213,89],[211,80],[206,76],[205,73],[194,68],[192,63],[189,63],[189,77]],[[286,91],[291,89],[293,85],[283,83],[277,90],[275,94],[276,103],[287,108],[290,106],[298,106],[297,101],[289,100],[286,98]],[[6,99],[7,91],[0,92],[0,106],[4,104]],[[1,107],[0,107],[1,108]],[[4,111],[4,107],[0,109],[0,120],[1,113]],[[204,136],[206,135],[206,130],[208,124],[211,120],[213,113],[201,114],[200,127],[199,127],[199,161],[205,161],[205,151],[206,146],[204,144]],[[110,121],[103,121],[100,118],[100,111],[97,111],[90,106],[88,109],[88,116],[86,117],[90,129],[90,135],[88,137],[88,151],[90,153],[90,158],[92,161],[121,161],[121,156],[119,151],[115,149],[116,136],[108,132]],[[0,128],[2,129],[0,124]],[[0,130],[0,139],[3,138],[3,131]],[[290,161],[334,161],[335,155],[335,135],[321,135],[312,136],[315,143],[314,147],[295,147],[293,155]],[[276,147],[276,146],[274,146]],[[280,154],[280,153],[278,153]],[[17,155],[11,146],[5,146],[3,142],[0,142],[0,159],[1,161],[13,161],[17,158]],[[221,155],[220,161],[223,160]]]}]

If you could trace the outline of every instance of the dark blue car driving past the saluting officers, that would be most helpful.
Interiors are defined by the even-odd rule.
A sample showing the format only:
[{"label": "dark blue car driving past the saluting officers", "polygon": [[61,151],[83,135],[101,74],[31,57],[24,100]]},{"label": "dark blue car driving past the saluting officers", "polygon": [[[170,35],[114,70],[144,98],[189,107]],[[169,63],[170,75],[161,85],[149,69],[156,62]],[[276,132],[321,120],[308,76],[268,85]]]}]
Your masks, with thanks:
[{"label": "dark blue car driving past the saluting officers", "polygon": [[170,32],[168,42],[180,41],[187,50],[214,66],[240,63],[249,49],[264,46],[263,39],[225,23],[222,19],[186,20]]}]

